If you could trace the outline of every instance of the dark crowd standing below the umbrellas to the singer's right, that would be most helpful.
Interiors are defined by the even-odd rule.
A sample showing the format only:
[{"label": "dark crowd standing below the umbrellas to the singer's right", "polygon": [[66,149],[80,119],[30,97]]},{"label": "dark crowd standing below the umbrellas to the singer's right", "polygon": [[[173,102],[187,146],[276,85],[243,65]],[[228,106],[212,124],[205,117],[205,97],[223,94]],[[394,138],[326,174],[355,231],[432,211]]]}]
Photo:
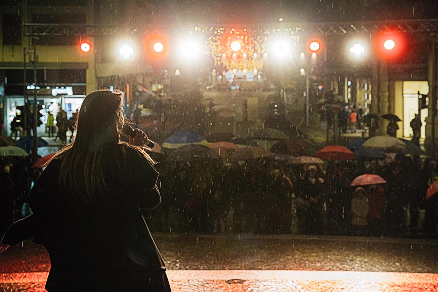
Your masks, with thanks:
[{"label": "dark crowd standing below the umbrellas to the singer's right", "polygon": [[[424,230],[427,236],[436,235],[437,199],[425,201],[437,176],[434,161],[422,169],[404,156],[386,164],[330,162],[327,167],[270,158],[234,164],[164,162],[157,167],[162,204],[149,219],[156,230],[373,236]],[[365,173],[378,174],[387,183],[350,186]],[[425,210],[425,220],[420,210]]]}]

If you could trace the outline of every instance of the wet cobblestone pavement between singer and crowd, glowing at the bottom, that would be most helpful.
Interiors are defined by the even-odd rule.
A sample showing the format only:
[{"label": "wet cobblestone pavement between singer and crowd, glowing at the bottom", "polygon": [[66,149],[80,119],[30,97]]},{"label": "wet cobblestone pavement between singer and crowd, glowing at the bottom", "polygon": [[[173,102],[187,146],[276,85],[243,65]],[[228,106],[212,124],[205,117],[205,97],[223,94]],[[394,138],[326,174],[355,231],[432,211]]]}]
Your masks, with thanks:
[{"label": "wet cobblestone pavement between singer and crowd, glowing at the bottom", "polygon": [[[154,238],[178,292],[438,291],[438,241],[288,235]],[[26,242],[10,248],[0,255],[0,291],[44,291],[49,269],[41,246]]]}]

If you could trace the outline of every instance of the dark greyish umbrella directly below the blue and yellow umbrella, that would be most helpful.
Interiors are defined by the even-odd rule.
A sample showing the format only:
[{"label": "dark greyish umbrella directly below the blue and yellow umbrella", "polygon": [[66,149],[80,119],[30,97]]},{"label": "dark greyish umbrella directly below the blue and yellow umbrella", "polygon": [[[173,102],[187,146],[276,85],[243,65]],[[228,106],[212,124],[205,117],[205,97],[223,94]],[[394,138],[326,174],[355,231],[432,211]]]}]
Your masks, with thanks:
[{"label": "dark greyish umbrella directly below the blue and yellow umbrella", "polygon": [[187,145],[172,150],[167,156],[167,162],[196,162],[220,159],[219,155],[204,145]]}]

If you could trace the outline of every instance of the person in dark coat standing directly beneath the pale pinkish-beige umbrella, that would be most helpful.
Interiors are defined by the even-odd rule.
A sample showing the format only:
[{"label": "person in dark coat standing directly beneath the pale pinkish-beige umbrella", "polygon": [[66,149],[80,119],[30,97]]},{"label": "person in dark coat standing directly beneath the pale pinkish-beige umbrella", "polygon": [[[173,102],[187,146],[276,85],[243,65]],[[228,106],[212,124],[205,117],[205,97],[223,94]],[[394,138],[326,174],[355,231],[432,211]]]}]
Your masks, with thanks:
[{"label": "person in dark coat standing directly beneath the pale pinkish-beige umbrella", "polygon": [[321,200],[324,193],[324,180],[315,165],[308,166],[299,183],[297,204],[298,224],[303,234],[322,234],[323,218]]}]

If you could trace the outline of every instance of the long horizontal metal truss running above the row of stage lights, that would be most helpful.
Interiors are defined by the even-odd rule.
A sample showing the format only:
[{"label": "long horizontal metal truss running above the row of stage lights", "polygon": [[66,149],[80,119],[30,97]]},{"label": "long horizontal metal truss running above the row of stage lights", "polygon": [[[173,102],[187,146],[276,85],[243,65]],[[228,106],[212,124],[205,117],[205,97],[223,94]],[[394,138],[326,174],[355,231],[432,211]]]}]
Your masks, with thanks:
[{"label": "long horizontal metal truss running above the row of stage lights", "polygon": [[[253,27],[253,31],[263,32],[272,27],[299,27],[300,32],[314,35],[342,35],[342,34],[370,34],[376,31],[400,31],[403,33],[425,33],[436,35],[438,33],[438,19],[414,19],[391,21],[350,21],[350,22],[320,22],[320,23],[276,23],[260,24]],[[204,27],[200,25],[200,27]],[[205,25],[210,27],[210,25]],[[251,27],[251,26],[250,26]],[[24,35],[27,37],[38,36],[90,36],[112,37],[121,34],[149,34],[160,29],[161,32],[170,31],[171,28],[161,27],[132,27],[121,25],[90,25],[90,24],[43,24],[26,23]]]}]

